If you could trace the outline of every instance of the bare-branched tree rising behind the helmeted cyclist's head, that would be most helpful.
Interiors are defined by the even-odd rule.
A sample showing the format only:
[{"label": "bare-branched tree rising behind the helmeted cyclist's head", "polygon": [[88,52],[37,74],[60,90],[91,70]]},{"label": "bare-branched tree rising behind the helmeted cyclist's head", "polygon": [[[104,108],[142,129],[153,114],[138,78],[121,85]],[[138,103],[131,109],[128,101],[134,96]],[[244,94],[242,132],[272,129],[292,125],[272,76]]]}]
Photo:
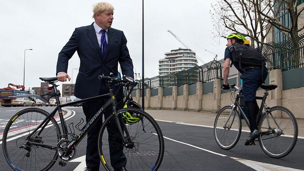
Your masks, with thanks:
[{"label": "bare-branched tree rising behind the helmeted cyclist's head", "polygon": [[[216,37],[226,37],[231,32],[248,36],[251,47],[262,48],[271,27],[267,26],[267,13],[271,13],[265,0],[218,0],[211,4],[211,17]],[[258,11],[264,10],[265,15]],[[267,11],[268,10],[268,11]]]}]

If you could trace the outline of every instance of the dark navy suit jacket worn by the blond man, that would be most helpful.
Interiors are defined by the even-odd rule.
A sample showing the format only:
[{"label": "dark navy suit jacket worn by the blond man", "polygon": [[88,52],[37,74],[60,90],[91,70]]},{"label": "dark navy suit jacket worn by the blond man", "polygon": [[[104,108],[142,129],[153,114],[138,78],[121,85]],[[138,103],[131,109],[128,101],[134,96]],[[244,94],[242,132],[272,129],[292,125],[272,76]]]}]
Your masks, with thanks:
[{"label": "dark navy suit jacket worn by the blond man", "polygon": [[[107,93],[106,84],[98,80],[98,75],[117,75],[118,62],[123,75],[134,77],[132,59],[124,33],[110,27],[107,34],[108,46],[103,58],[93,23],[90,26],[76,28],[58,55],[56,75],[59,72],[67,73],[69,59],[75,51],[78,53],[80,66],[74,89],[74,95],[78,98],[97,96],[100,92]],[[113,87],[114,92],[117,89],[118,86]],[[122,94],[122,90],[119,90],[118,94]]]}]

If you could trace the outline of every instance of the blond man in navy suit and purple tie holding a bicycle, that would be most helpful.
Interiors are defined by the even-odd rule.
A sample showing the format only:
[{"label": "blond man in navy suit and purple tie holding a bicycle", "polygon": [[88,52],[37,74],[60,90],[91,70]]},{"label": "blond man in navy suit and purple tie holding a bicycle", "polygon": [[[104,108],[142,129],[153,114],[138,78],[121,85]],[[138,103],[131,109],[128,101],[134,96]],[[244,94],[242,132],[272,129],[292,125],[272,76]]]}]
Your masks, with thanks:
[{"label": "blond man in navy suit and purple tie holding a bicycle", "polygon": [[[98,80],[98,75],[117,75],[118,62],[123,75],[133,78],[133,64],[130,58],[127,40],[122,31],[111,28],[114,8],[107,2],[99,2],[93,8],[95,22],[89,26],[76,28],[68,43],[58,55],[57,78],[59,81],[70,80],[67,74],[68,61],[77,51],[80,58],[79,72],[75,83],[74,95],[78,98],[93,97],[108,92],[104,81]],[[117,102],[122,99],[122,90],[113,88],[117,92]],[[99,99],[83,103],[83,112],[86,121],[89,121],[108,99]],[[106,117],[111,111],[107,112]],[[86,170],[99,170],[100,158],[98,155],[97,139],[102,119],[88,132],[86,150]],[[109,128],[107,128],[109,129]],[[119,140],[112,139],[111,142]],[[121,143],[122,144],[122,143]],[[123,147],[115,148],[110,152],[111,165],[114,170],[126,170],[126,156]]]}]

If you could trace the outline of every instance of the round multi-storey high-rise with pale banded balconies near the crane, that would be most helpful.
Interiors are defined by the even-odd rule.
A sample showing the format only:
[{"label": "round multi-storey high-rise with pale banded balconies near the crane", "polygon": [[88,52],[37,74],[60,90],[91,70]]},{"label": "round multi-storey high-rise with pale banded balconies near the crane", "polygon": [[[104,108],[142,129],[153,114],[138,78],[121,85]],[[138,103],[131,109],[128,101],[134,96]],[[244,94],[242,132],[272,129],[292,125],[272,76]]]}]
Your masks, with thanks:
[{"label": "round multi-storey high-rise with pale banded balconies near the crane", "polygon": [[165,53],[164,59],[159,59],[159,75],[174,74],[197,66],[195,52],[191,49],[178,48]]}]

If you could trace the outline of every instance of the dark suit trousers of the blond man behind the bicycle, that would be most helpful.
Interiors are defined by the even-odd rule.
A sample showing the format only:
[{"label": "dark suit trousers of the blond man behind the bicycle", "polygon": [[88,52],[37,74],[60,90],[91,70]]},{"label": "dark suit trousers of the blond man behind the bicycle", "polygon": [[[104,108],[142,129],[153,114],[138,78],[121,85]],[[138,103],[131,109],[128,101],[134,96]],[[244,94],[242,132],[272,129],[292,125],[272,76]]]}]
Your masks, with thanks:
[{"label": "dark suit trousers of the blond man behind the bicycle", "polygon": [[[104,92],[104,91],[101,91]],[[104,93],[100,93],[104,94]],[[97,111],[107,102],[108,99],[98,99],[95,101],[89,101],[83,103],[83,112],[86,116],[86,121],[88,122],[96,113]],[[119,102],[119,100],[117,100]],[[120,104],[120,106],[122,106]],[[112,110],[108,110],[105,114],[105,118],[112,114]],[[102,119],[97,121],[96,124],[92,127],[90,131],[88,131],[88,138],[87,138],[87,151],[86,151],[86,165],[87,168],[92,170],[99,170],[100,166],[100,156],[98,153],[98,134],[100,128],[102,126]],[[111,165],[114,169],[118,169],[121,167],[126,166],[126,156],[122,152],[123,150],[123,142],[121,137],[114,135],[113,131],[116,130],[117,127],[115,124],[111,124],[107,126],[107,130],[109,133],[109,146],[110,146],[110,158],[111,158]],[[115,131],[116,132],[116,131]],[[112,134],[111,134],[112,133]],[[117,146],[117,144],[121,144],[121,146]]]}]

